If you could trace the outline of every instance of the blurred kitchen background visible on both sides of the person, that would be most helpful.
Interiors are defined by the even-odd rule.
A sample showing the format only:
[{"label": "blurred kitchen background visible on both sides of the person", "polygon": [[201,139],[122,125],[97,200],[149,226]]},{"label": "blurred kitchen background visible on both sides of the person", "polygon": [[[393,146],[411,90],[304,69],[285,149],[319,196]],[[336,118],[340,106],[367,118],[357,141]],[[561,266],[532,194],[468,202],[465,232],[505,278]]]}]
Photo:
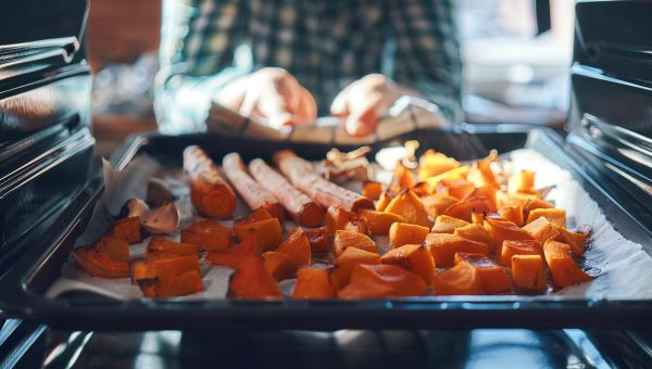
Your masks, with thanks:
[{"label": "blurred kitchen background visible on both sides of the person", "polygon": [[[93,131],[109,155],[156,129],[162,0],[90,0]],[[467,122],[561,127],[569,102],[573,0],[457,0]]]}]

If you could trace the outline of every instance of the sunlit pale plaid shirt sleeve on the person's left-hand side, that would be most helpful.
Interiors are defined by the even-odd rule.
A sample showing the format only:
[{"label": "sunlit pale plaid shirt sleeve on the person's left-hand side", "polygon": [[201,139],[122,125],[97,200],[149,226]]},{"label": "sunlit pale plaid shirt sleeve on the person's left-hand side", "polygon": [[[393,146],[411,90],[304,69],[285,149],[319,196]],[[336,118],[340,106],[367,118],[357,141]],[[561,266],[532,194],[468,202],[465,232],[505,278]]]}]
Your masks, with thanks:
[{"label": "sunlit pale plaid shirt sleeve on the person's left-hand side", "polygon": [[204,130],[215,93],[251,72],[234,62],[244,12],[242,0],[163,1],[154,96],[162,132]]}]

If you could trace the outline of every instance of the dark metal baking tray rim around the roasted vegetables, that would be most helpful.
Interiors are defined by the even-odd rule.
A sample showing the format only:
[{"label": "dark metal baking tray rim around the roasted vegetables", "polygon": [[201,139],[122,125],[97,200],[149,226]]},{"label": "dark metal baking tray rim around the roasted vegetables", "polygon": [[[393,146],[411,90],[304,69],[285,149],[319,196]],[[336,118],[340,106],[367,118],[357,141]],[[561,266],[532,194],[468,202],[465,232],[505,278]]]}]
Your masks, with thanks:
[{"label": "dark metal baking tray rim around the roasted vegetables", "polygon": [[[529,148],[568,170],[598,203],[614,228],[644,245],[650,254],[649,225],[636,214],[642,207],[584,160],[578,147],[566,143],[547,128],[522,126],[461,126],[452,130],[421,130],[378,142],[373,150],[417,139],[423,150],[437,148],[460,160]],[[189,144],[203,147],[220,160],[238,151],[246,160],[269,158],[281,148],[318,160],[331,149],[325,145],[274,143],[222,139],[208,133],[161,136],[147,133],[128,140],[112,158],[124,168],[137,154],[147,153],[170,166],[179,166]],[[340,147],[341,150],[352,149]],[[648,319],[652,300],[615,301],[574,296],[428,296],[379,301],[113,301],[89,293],[71,293],[57,300],[43,296],[60,276],[75,239],[84,231],[95,202],[102,191],[96,178],[51,228],[49,237],[35,244],[0,280],[0,309],[7,317],[36,318],[53,327],[79,330],[148,329],[463,329],[463,328],[652,328]]]}]

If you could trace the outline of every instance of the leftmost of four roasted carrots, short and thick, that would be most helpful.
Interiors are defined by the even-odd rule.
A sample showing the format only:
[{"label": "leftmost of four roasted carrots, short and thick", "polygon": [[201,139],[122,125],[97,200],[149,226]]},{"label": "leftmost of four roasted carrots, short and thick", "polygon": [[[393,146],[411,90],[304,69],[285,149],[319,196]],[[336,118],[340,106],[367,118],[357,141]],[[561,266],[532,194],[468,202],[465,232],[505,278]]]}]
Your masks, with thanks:
[{"label": "leftmost of four roasted carrots, short and thick", "polygon": [[214,218],[231,216],[236,193],[201,148],[191,145],[184,150],[184,170],[190,182],[190,200],[200,213]]}]

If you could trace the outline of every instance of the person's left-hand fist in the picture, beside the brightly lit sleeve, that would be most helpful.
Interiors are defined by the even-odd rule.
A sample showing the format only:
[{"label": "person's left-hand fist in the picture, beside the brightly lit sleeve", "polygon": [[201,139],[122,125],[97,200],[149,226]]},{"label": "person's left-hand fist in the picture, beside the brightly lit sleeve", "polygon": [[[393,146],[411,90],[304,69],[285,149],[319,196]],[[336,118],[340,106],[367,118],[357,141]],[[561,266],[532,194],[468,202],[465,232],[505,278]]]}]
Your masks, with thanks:
[{"label": "person's left-hand fist in the picture, beside the brightly lit sleeve", "polygon": [[216,101],[274,128],[317,117],[313,96],[283,68],[262,68],[235,79],[218,92]]}]

